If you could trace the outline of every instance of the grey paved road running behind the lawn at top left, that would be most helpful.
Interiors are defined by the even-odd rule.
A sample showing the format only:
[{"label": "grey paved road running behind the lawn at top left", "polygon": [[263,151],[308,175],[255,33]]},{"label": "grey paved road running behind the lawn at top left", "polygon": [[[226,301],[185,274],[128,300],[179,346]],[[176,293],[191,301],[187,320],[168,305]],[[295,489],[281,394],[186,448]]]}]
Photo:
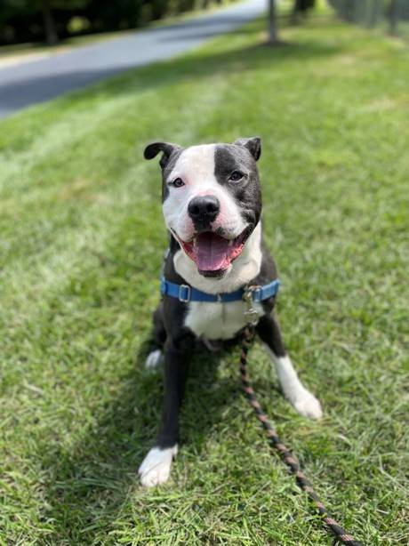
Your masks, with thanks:
[{"label": "grey paved road running behind the lawn at top left", "polygon": [[0,117],[129,68],[186,52],[243,25],[265,9],[266,0],[248,0],[171,26],[140,30],[41,60],[0,67]]}]

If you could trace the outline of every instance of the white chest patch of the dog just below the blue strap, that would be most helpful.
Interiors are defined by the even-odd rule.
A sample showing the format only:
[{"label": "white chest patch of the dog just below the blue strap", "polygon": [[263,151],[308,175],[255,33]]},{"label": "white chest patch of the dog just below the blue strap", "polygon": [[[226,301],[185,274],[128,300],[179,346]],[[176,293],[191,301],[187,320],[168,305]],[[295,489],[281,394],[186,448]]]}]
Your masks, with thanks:
[{"label": "white chest patch of the dog just below the blue strap", "polygon": [[[260,303],[254,304],[260,315],[263,309]],[[206,303],[191,301],[185,325],[208,340],[229,340],[245,327],[245,302]]]}]

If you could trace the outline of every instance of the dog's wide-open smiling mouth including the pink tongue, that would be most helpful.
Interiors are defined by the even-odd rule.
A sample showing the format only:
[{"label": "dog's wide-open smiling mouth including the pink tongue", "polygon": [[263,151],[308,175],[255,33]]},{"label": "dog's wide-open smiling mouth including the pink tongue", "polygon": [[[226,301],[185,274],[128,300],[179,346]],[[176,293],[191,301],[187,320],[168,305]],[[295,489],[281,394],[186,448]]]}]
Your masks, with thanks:
[{"label": "dog's wide-open smiling mouth including the pink tongue", "polygon": [[181,241],[188,257],[196,263],[197,269],[205,277],[221,277],[232,261],[243,252],[245,241],[250,235],[246,228],[238,237],[228,239],[213,231],[204,231],[191,241]]}]

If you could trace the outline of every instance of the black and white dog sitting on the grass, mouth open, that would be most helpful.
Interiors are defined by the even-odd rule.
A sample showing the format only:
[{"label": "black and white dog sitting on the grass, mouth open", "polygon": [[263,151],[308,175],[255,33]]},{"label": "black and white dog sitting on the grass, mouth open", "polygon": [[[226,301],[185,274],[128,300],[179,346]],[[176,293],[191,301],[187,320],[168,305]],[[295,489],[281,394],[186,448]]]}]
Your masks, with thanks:
[{"label": "black and white dog sitting on the grass, mouth open", "polygon": [[[145,158],[161,153],[164,221],[171,242],[164,263],[166,282],[183,286],[181,297],[164,294],[154,315],[154,345],[146,365],[164,357],[164,414],[156,444],[140,465],[143,486],[169,478],[178,450],[179,411],[188,363],[196,340],[205,344],[230,340],[246,325],[245,301],[222,301],[221,295],[248,285],[262,286],[277,278],[277,269],[261,235],[261,188],[256,161],[259,138],[234,144],[205,144],[186,149],[155,142]],[[190,291],[221,294],[217,301],[192,301]],[[213,296],[212,296],[213,297]],[[274,362],[278,379],[294,408],[313,419],[321,405],[307,390],[285,352],[275,296],[254,303],[256,331]]]}]

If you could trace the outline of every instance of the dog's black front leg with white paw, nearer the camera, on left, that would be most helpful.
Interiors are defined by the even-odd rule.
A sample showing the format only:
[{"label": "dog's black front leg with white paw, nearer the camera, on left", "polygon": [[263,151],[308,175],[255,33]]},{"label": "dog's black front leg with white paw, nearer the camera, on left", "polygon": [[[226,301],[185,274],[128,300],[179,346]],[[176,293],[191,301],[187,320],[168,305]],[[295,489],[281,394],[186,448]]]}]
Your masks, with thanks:
[{"label": "dog's black front leg with white paw, nearer the camera, on left", "polygon": [[172,460],[178,452],[179,411],[193,345],[191,333],[169,337],[164,345],[163,419],[156,445],[138,470],[142,486],[156,486],[169,478]]}]

